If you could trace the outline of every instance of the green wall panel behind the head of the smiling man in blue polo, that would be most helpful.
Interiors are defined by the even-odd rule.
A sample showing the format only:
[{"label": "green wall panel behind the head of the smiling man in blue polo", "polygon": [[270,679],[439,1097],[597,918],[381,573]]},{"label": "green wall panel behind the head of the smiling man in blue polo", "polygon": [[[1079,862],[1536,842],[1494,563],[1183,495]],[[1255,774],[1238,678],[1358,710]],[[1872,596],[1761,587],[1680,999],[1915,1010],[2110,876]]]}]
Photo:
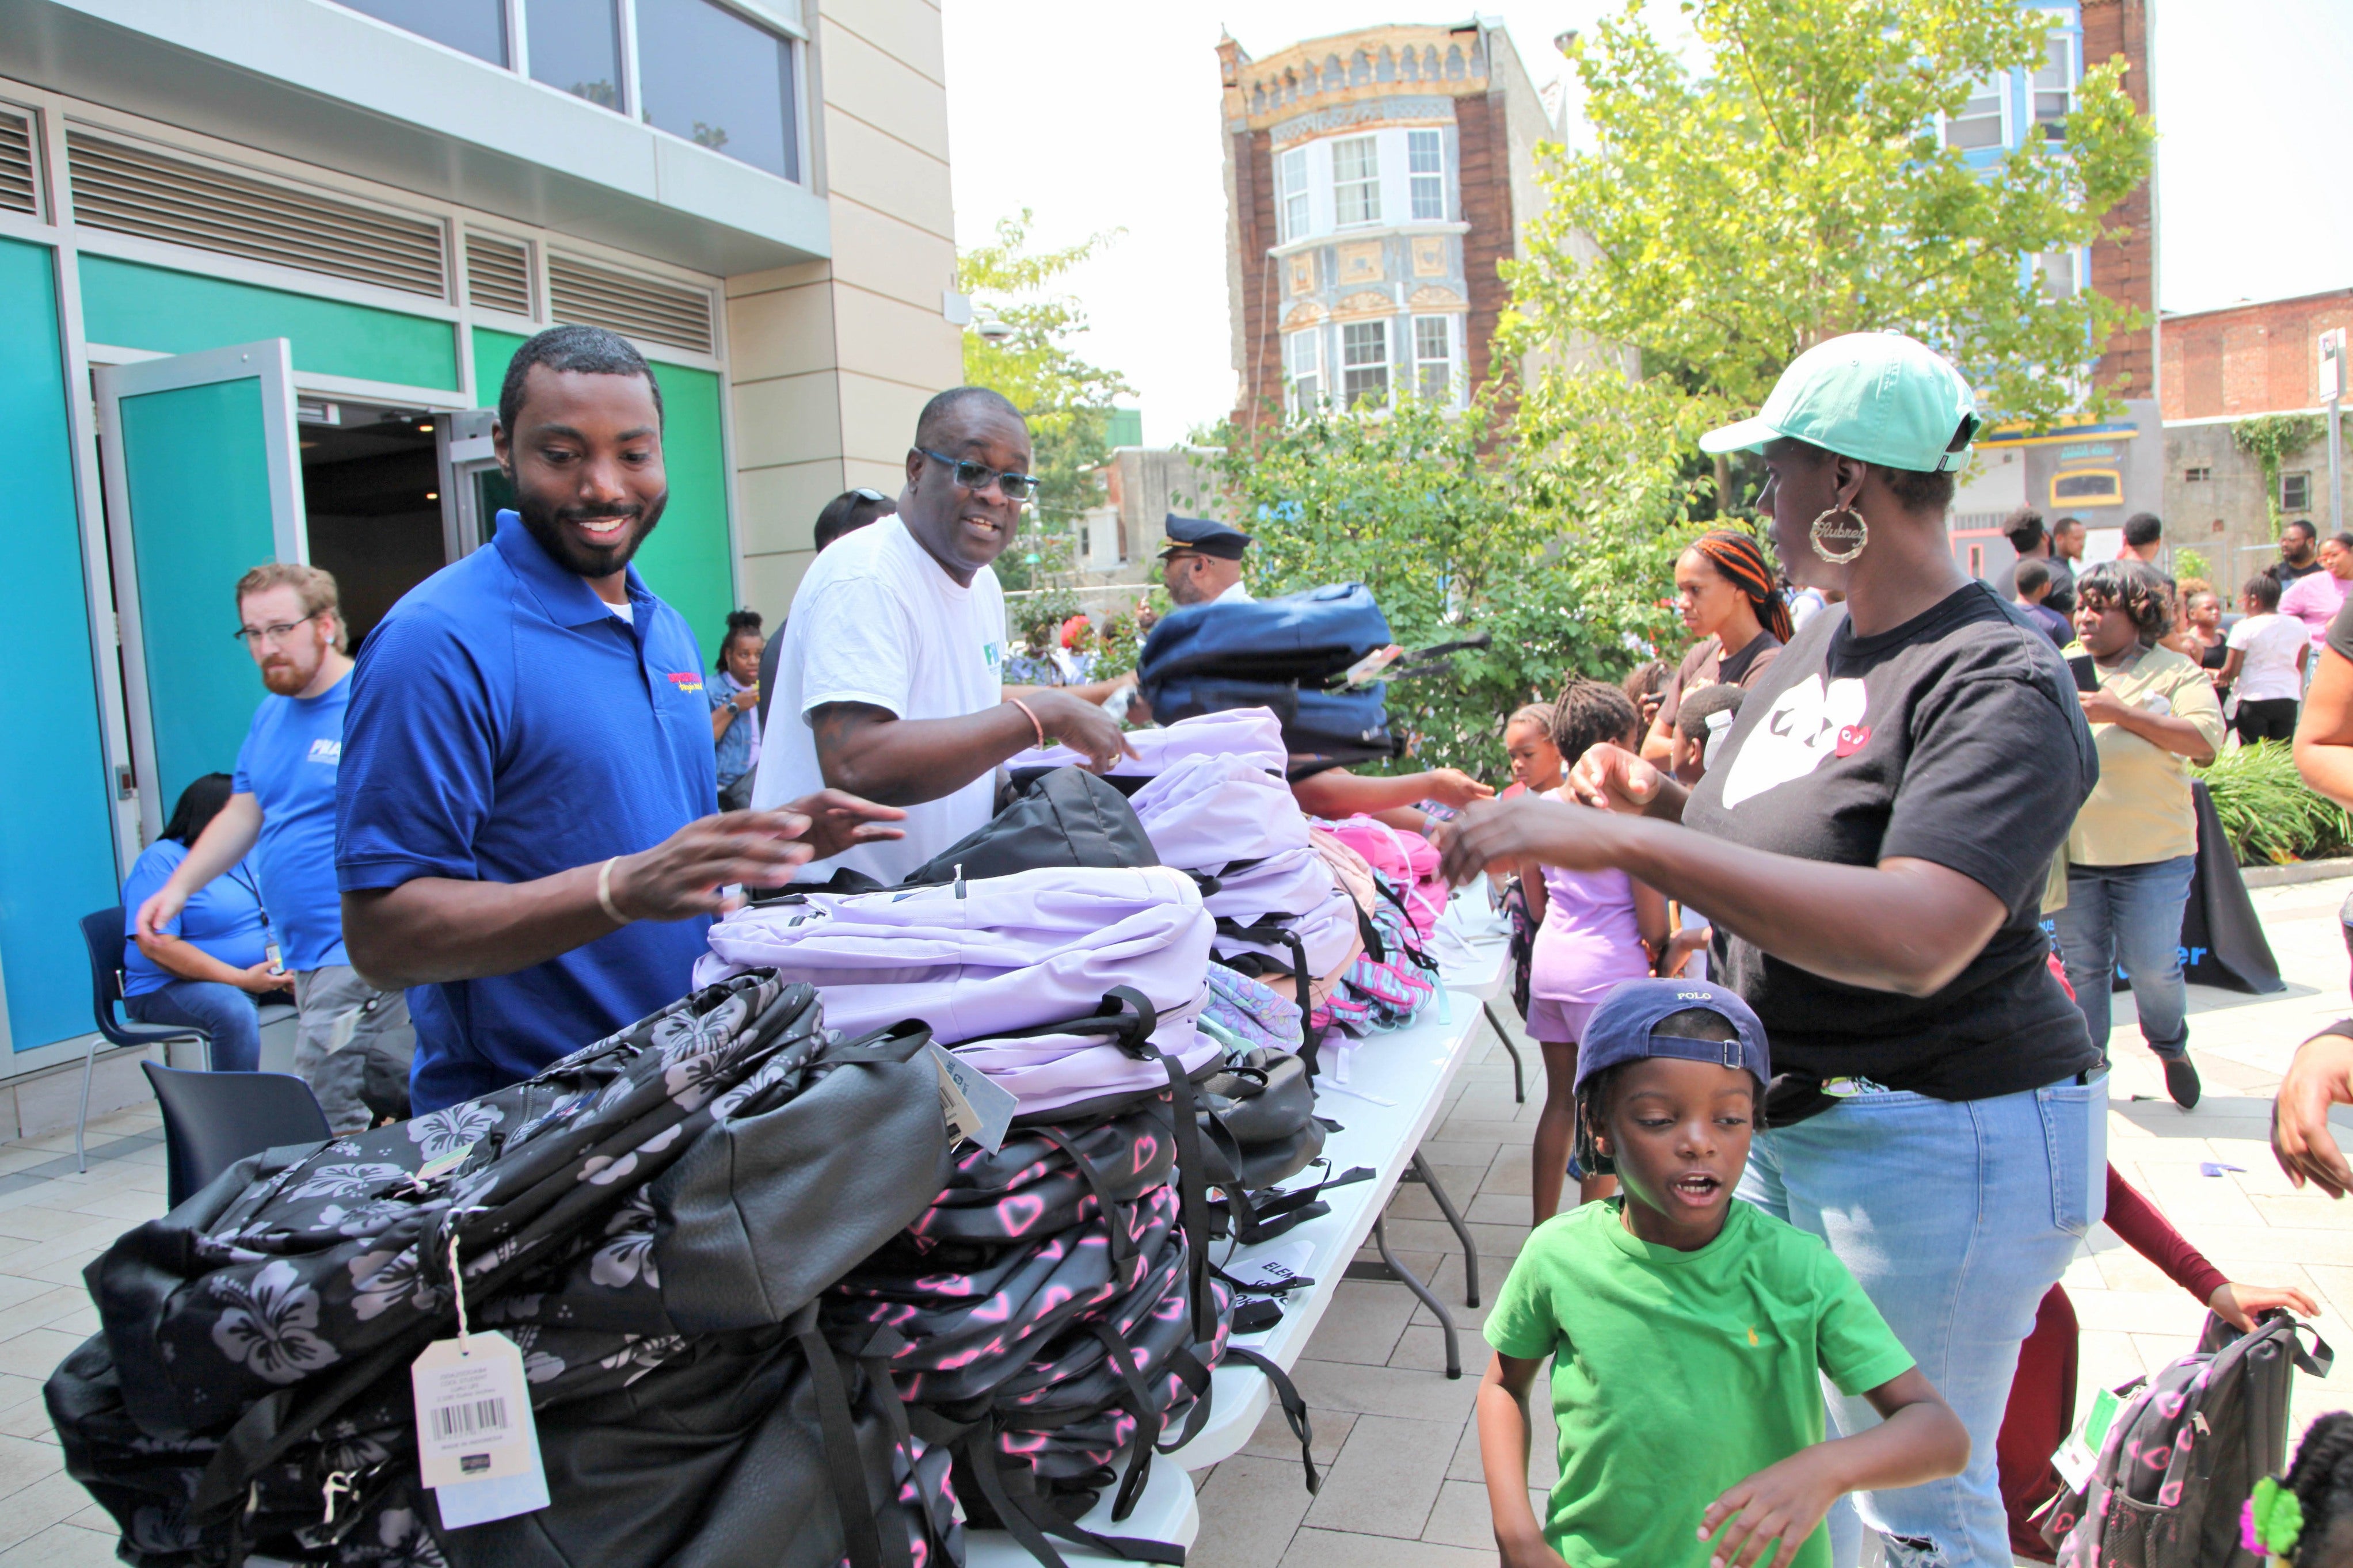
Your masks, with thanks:
[{"label": "green wall panel behind the head of the smiling man in blue polo", "polygon": [[[522,348],[511,331],[473,329],[475,402],[499,404],[506,364]],[[734,597],[734,550],[727,543],[727,444],[720,400],[727,383],[706,369],[654,362],[661,381],[661,458],[671,503],[661,527],[638,550],[638,571],[694,628],[704,658],[718,658]]]}]

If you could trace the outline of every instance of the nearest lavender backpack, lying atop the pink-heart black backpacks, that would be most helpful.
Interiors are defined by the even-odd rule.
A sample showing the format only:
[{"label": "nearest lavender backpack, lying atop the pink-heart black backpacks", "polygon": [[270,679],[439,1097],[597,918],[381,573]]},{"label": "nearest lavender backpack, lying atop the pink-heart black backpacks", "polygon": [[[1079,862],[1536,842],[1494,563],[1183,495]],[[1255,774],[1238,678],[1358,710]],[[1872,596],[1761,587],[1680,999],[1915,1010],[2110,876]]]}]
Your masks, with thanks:
[{"label": "nearest lavender backpack, lying atop the pink-heart black backpacks", "polygon": [[826,1023],[852,1032],[920,1018],[1031,1119],[1167,1088],[1162,1067],[1106,1041],[1106,1027],[1052,1027],[1101,1020],[1118,987],[1151,1001],[1151,1046],[1184,1072],[1217,1058],[1217,1041],[1193,1027],[1209,999],[1212,931],[1184,872],[1054,867],[739,910],[711,929],[694,976],[708,985],[774,966],[814,985]]}]

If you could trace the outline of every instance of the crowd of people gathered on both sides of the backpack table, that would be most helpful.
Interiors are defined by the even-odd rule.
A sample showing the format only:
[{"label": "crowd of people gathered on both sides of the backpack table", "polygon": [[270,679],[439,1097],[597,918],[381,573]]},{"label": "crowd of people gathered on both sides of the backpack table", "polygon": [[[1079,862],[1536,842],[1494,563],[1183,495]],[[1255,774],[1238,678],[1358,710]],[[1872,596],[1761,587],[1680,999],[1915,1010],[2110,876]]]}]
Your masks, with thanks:
[{"label": "crowd of people gathered on both sides of the backpack table", "polygon": [[[2177,947],[2217,677],[2254,710],[2240,733],[2268,736],[2280,672],[2318,661],[2297,755],[2353,802],[2353,618],[2332,607],[2313,642],[2285,609],[2292,654],[2259,625],[2325,597],[2320,576],[2341,602],[2353,538],[2285,592],[2249,585],[2231,628],[2151,564],[2155,520],[2085,567],[2073,520],[2019,517],[2007,581],[1979,583],[1946,538],[1977,428],[1960,374],[1908,339],[1807,350],[1704,442],[1758,456],[1786,583],[1746,531],[1694,541],[1692,649],[1499,715],[1501,799],[1454,769],[1294,785],[1313,816],[1426,825],[1449,879],[1525,907],[1537,1229],[1478,1396],[1513,1568],[1821,1568],[1859,1561],[1866,1528],[1892,1561],[2007,1563],[2019,1509],[2054,1490],[2059,1276],[2132,1201],[2106,1164],[2118,959],[2167,1086],[2198,1098]],[[1144,715],[1113,701],[1125,677],[1085,679],[1078,628],[1028,654],[1007,637],[991,564],[1038,480],[998,393],[934,397],[899,494],[835,498],[781,625],[732,616],[711,672],[631,564],[666,503],[642,357],[591,327],[534,336],[494,447],[515,508],[358,661],[325,574],[238,583],[271,696],[125,893],[132,1009],[198,1023],[238,1070],[254,999],[292,985],[296,1065],[339,1128],[520,1081],[661,1009],[739,889],[904,879],[991,820],[1021,752],[1134,755],[1113,710]],[[1167,527],[1176,604],[1249,597],[1245,534]],[[1012,679],[1040,658],[1073,679]],[[2278,1107],[2280,1164],[2337,1197],[2344,1103],[2353,1020],[2299,1051]],[[2242,1326],[2311,1309],[2174,1265]],[[1539,1519],[1546,1361],[1562,1465]]]}]

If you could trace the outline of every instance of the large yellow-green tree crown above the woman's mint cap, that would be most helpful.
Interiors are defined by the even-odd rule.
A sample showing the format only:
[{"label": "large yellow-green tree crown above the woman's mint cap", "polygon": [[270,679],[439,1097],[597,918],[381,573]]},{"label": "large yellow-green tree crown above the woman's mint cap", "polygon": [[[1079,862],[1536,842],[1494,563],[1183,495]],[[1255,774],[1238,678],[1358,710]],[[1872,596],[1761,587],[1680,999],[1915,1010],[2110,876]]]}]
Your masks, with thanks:
[{"label": "large yellow-green tree crown above the woman's mint cap", "polygon": [[2052,296],[2028,263],[2108,233],[2148,174],[2120,61],[2092,63],[2061,139],[1986,172],[1941,146],[1937,118],[1972,82],[2040,66],[2045,12],[1685,0],[1694,75],[1642,9],[1572,47],[1595,150],[1544,155],[1551,205],[1504,263],[1513,353],[1619,343],[1645,376],[1755,407],[1805,348],[1897,329],[1962,364],[1991,418],[2085,407],[2097,346],[2146,322],[2092,289]]}]

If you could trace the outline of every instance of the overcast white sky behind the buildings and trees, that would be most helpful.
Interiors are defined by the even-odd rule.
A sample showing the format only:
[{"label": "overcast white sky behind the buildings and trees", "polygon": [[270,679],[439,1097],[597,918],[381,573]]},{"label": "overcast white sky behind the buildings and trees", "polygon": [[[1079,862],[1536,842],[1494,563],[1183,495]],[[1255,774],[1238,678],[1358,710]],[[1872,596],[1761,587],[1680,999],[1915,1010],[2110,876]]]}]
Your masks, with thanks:
[{"label": "overcast white sky behind the buildings and trees", "polygon": [[[1600,0],[1501,16],[1541,87],[1551,38]],[[2353,284],[2346,0],[2153,0],[2158,12],[2160,303],[2202,310]],[[1217,38],[1257,56],[1379,21],[1459,21],[1395,0],[946,0],[948,136],[960,244],[1035,212],[1040,244],[1125,230],[1071,275],[1082,353],[1127,374],[1144,440],[1233,407]]]}]

